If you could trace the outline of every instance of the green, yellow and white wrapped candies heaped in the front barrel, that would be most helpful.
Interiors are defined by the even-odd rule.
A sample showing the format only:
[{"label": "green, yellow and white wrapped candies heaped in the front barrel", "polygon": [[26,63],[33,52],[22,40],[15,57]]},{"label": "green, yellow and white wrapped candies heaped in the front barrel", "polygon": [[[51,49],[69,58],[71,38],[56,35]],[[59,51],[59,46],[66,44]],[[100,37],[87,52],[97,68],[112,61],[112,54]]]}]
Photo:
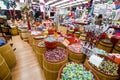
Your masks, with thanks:
[{"label": "green, yellow and white wrapped candies heaped in the front barrel", "polygon": [[68,63],[62,70],[60,80],[95,80],[91,71],[81,64]]}]

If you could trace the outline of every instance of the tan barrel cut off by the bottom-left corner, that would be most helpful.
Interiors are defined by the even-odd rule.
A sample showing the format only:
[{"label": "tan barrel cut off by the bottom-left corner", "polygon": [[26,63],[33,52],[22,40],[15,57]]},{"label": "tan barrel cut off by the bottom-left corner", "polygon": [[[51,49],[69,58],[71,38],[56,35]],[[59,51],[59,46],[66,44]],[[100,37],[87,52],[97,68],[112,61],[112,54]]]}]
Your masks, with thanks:
[{"label": "tan barrel cut off by the bottom-left corner", "polygon": [[0,55],[0,80],[12,80],[11,72],[4,58]]}]

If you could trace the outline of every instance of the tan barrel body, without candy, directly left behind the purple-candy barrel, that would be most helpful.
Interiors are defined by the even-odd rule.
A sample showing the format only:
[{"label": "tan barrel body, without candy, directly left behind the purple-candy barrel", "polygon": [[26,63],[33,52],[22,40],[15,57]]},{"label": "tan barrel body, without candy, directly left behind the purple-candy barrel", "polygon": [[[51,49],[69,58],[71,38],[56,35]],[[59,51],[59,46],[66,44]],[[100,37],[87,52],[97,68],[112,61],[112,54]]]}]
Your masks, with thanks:
[{"label": "tan barrel body, without candy, directly left behind the purple-candy barrel", "polygon": [[38,59],[40,67],[43,69],[43,54],[46,52],[46,48],[36,46],[36,51],[35,52],[36,52],[36,57]]}]

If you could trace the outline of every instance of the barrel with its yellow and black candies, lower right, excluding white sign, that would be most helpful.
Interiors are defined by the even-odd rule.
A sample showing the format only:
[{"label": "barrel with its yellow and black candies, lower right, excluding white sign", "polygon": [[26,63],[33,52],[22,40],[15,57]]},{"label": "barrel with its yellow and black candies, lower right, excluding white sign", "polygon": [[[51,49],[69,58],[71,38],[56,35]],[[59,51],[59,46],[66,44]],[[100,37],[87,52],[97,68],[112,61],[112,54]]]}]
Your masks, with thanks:
[{"label": "barrel with its yellow and black candies, lower right, excluding white sign", "polygon": [[86,58],[84,65],[96,73],[100,80],[119,80],[120,76],[117,73],[118,64],[107,56],[100,54],[98,56],[103,58],[103,61],[98,67],[89,62],[89,57]]}]

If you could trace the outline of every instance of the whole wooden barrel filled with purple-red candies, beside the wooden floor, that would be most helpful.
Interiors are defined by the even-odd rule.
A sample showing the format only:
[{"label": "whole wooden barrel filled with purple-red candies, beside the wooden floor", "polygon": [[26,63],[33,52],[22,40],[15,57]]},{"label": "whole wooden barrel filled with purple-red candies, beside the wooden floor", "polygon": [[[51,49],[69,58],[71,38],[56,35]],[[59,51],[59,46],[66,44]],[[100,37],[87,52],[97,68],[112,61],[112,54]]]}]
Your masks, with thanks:
[{"label": "whole wooden barrel filled with purple-red candies, beside the wooden floor", "polygon": [[52,51],[47,51],[43,57],[43,71],[46,80],[56,80],[60,67],[67,61],[68,57],[65,49],[56,48]]}]

